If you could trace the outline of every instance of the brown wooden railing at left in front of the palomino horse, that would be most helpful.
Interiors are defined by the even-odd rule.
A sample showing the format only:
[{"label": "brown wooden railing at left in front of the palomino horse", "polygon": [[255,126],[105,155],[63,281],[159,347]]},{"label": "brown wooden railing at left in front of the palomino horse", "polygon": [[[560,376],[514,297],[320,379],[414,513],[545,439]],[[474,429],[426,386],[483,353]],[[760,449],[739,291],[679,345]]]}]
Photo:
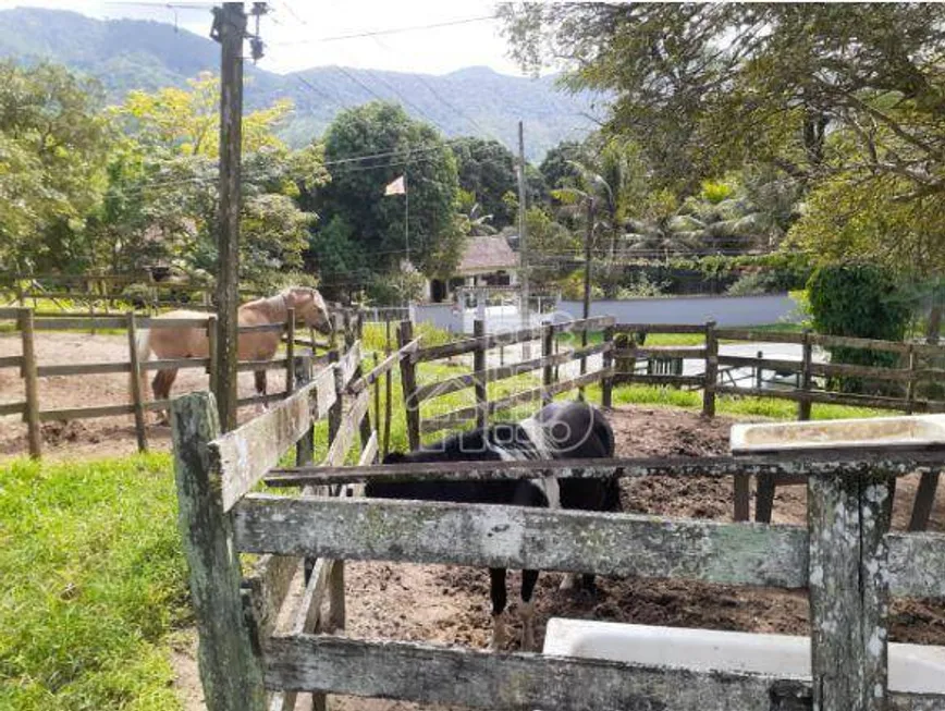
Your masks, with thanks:
[{"label": "brown wooden railing at left in front of the palomino horse", "polygon": [[[138,449],[144,451],[148,446],[145,413],[151,410],[165,410],[170,401],[149,400],[149,394],[143,392],[142,375],[156,370],[175,369],[200,369],[210,377],[210,388],[213,389],[216,379],[216,348],[217,329],[216,316],[193,318],[150,318],[127,312],[122,316],[87,316],[82,314],[44,314],[35,312],[29,308],[0,308],[0,322],[7,320],[13,322],[13,328],[20,333],[20,355],[0,356],[0,369],[16,368],[23,379],[23,400],[0,402],[0,416],[21,415],[26,425],[29,454],[38,457],[42,452],[42,438],[40,426],[47,421],[70,421],[77,419],[114,417],[121,415],[134,415],[135,433]],[[359,324],[345,312],[336,315],[339,331],[345,334],[346,344],[355,341],[355,327]],[[137,334],[143,329],[162,329],[193,327],[205,330],[208,336],[209,356],[206,358],[173,358],[151,359],[142,361],[136,346]],[[44,364],[37,356],[37,340],[41,332],[64,330],[120,330],[127,334],[127,360],[110,363],[82,363],[82,364]],[[284,355],[270,360],[243,360],[236,366],[237,371],[281,370],[285,372],[285,388],[282,391],[267,393],[266,395],[253,395],[242,397],[238,405],[242,407],[256,404],[269,404],[283,400],[295,390],[294,370],[296,346],[303,345],[309,348],[328,347],[330,344],[316,342],[314,339],[299,338],[296,332],[294,311],[290,309],[289,316],[283,323],[267,326],[240,327],[240,333],[278,331],[285,342]],[[316,363],[328,361],[328,354],[319,356]],[[360,356],[358,356],[359,358]],[[108,373],[127,373],[130,378],[128,400],[118,404],[44,408],[39,394],[39,381],[42,378],[97,376]]]}]

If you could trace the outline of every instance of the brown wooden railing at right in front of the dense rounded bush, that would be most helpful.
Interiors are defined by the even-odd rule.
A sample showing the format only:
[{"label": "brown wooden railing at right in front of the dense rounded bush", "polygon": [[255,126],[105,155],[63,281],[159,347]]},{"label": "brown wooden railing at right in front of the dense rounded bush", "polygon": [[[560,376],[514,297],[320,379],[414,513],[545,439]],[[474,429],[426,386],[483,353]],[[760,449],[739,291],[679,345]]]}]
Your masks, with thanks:
[{"label": "brown wooden railing at right in front of the dense rounded bush", "polygon": [[[831,403],[912,413],[945,412],[945,401],[920,397],[923,385],[941,384],[945,369],[945,345],[855,339],[839,335],[824,335],[803,331],[759,331],[750,329],[720,329],[714,322],[707,323],[618,323],[614,327],[615,365],[614,381],[636,382],[656,385],[676,385],[702,390],[702,413],[715,414],[719,395],[758,396],[790,400],[798,404],[798,419],[811,417],[815,403]],[[647,334],[698,334],[703,343],[689,346],[648,346]],[[640,344],[639,342],[643,343]],[[720,353],[720,344],[772,343],[800,346],[800,357],[765,358],[757,356],[729,355]],[[815,363],[813,348],[844,347],[852,350],[889,353],[898,356],[898,365],[888,367],[859,366],[839,363]],[[697,361],[701,367],[697,372],[683,372],[683,364]],[[746,372],[747,371],[747,372]],[[776,388],[763,388],[770,382],[765,373],[776,372],[793,377],[794,383],[777,381]],[[872,381],[897,384],[901,396],[868,395],[847,392],[831,392],[824,389],[827,378],[869,378]],[[745,384],[748,380],[748,385]],[[759,477],[756,519],[770,522],[775,489],[784,485],[803,483],[798,477]],[[935,501],[938,475],[929,471],[922,475],[916,504],[909,522],[910,530],[923,530],[932,513]],[[749,517],[749,481],[747,477],[735,479],[735,517],[747,520]]]}]

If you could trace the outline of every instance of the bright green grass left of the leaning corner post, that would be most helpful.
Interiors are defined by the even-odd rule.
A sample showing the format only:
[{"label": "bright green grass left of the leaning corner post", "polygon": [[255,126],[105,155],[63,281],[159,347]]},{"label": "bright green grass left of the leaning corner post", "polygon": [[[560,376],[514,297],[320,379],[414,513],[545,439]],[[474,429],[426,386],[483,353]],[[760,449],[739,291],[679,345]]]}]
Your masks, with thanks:
[{"label": "bright green grass left of the leaning corner post", "polygon": [[0,467],[0,708],[180,709],[191,624],[168,454]]}]

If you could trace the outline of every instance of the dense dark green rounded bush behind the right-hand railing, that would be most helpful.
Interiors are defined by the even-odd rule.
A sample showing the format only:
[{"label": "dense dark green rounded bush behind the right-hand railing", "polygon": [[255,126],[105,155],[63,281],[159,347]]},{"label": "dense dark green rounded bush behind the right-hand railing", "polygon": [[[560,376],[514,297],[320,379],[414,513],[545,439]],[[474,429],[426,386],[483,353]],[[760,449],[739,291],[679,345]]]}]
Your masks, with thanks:
[{"label": "dense dark green rounded bush behind the right-hand railing", "polygon": [[[826,265],[808,282],[813,327],[821,333],[884,341],[901,341],[910,309],[893,273],[876,265]],[[896,367],[895,353],[868,348],[830,348],[834,363]],[[844,392],[889,392],[888,385],[861,378],[838,378],[831,383]],[[898,394],[898,393],[896,393]]]}]

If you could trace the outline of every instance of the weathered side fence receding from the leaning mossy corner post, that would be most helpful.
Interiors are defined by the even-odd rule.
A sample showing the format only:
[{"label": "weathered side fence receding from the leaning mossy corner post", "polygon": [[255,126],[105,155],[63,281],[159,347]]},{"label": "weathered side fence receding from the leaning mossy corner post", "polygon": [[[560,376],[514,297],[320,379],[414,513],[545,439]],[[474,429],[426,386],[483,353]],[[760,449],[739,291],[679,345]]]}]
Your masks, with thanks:
[{"label": "weathered side fence receding from the leaning mossy corner post", "polygon": [[[200,678],[209,709],[292,709],[295,690],[262,691],[258,642],[287,620],[293,634],[345,626],[344,562],[320,556],[310,569],[303,594],[290,587],[303,569],[300,556],[262,555],[243,576],[232,547],[232,514],[237,502],[290,453],[296,465],[316,454],[316,428],[328,420],[321,464],[341,466],[355,443],[357,464],[377,461],[378,430],[371,425],[370,400],[381,379],[415,353],[405,344],[368,372],[356,350],[324,367],[303,360],[299,389],[269,413],[221,436],[213,397],[194,393],[172,404],[174,461],[180,500],[180,528],[191,569],[191,591],[200,634]],[[377,422],[377,409],[376,419]],[[303,487],[304,495],[331,498],[340,487]],[[321,617],[322,602],[330,601]],[[283,610],[286,604],[294,604]],[[316,694],[315,709],[324,709]]]}]

